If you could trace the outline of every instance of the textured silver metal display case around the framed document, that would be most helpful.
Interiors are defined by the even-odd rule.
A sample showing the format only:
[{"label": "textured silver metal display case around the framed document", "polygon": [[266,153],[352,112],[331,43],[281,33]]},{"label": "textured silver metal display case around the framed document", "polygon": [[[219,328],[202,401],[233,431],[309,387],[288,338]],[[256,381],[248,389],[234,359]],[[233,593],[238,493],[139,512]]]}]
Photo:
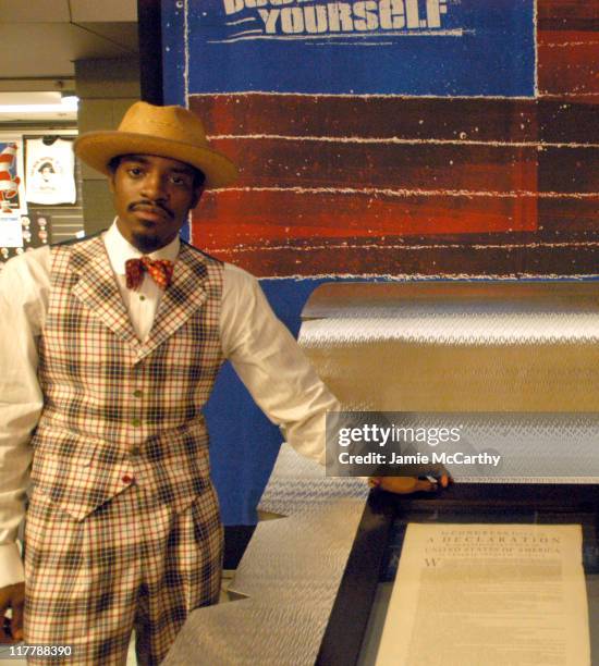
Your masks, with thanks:
[{"label": "textured silver metal display case around the framed document", "polygon": [[586,439],[585,456],[599,457],[598,342],[599,283],[320,286],[300,344],[349,409],[503,412],[524,430],[573,415],[546,457],[575,465],[567,479],[557,465],[534,483],[368,495],[363,480],[327,477],[284,446],[261,501],[279,519],[257,526],[230,588],[237,601],[195,610],[164,664],[375,664],[408,522],[580,525],[599,663],[599,476],[573,445]]}]

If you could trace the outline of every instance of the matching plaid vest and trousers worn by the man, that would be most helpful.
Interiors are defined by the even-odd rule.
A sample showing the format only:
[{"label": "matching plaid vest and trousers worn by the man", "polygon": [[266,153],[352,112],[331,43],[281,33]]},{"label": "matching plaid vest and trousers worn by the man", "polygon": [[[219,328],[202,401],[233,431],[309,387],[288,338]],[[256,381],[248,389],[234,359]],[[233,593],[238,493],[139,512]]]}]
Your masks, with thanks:
[{"label": "matching plaid vest and trousers worn by the man", "polygon": [[70,664],[123,664],[135,627],[139,662],[158,664],[187,614],[220,588],[201,407],[222,365],[222,264],[183,244],[140,342],[101,238],[52,252],[25,528],[26,641],[73,644]]}]

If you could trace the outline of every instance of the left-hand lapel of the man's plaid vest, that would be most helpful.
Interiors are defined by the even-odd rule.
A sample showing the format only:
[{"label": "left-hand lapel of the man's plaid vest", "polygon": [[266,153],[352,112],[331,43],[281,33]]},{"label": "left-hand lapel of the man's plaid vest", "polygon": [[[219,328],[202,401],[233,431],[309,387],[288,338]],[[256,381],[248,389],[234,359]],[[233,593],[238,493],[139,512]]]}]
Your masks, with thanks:
[{"label": "left-hand lapel of the man's plaid vest", "polygon": [[73,295],[114,335],[138,347],[140,343],[129,319],[101,237],[76,246],[71,255],[71,266],[78,275]]}]

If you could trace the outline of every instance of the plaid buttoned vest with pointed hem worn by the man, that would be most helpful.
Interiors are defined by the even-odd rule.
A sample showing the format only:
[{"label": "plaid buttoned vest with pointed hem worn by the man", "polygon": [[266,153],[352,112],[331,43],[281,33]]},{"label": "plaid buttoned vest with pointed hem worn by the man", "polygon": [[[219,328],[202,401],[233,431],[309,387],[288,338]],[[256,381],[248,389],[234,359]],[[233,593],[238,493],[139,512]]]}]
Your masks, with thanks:
[{"label": "plaid buttoned vest with pointed hem worn by the man", "polygon": [[201,407],[223,362],[222,264],[182,243],[146,342],[100,237],[52,248],[32,480],[75,519],[143,485],[183,510],[209,484]]}]

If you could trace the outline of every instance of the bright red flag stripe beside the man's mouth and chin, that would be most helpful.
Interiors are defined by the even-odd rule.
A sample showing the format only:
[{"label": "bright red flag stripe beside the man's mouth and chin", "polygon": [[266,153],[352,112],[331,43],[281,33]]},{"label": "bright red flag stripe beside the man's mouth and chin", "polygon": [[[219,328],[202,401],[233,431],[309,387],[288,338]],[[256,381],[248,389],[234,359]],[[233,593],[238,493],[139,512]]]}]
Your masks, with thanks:
[{"label": "bright red flag stripe beside the man's mouth and chin", "polygon": [[319,238],[522,232],[537,227],[537,200],[223,190],[206,196],[193,223],[194,242],[208,251]]}]

